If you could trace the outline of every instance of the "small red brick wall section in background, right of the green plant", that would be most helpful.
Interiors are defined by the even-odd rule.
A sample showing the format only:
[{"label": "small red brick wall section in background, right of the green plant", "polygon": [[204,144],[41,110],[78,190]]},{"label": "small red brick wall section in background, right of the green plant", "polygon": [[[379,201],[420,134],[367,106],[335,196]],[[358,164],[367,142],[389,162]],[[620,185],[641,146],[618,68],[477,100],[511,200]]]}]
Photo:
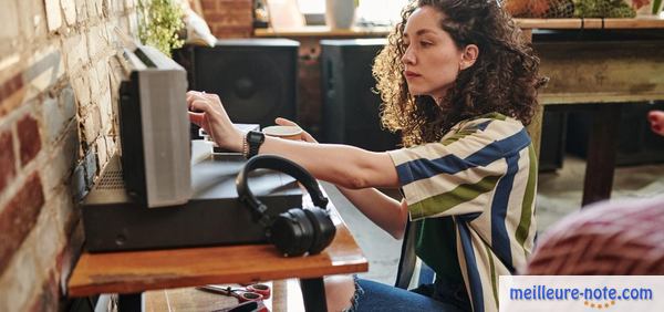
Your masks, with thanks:
[{"label": "small red brick wall section in background, right of the green plant", "polygon": [[203,14],[212,34],[248,38],[253,33],[252,0],[200,0]]}]

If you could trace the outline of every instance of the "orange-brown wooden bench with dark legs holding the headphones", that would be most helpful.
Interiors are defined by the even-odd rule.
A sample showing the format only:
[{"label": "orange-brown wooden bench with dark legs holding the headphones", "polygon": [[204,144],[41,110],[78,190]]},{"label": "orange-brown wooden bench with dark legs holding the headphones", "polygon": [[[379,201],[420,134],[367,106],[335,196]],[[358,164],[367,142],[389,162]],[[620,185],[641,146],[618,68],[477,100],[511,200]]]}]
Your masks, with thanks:
[{"label": "orange-brown wooden bench with dark legs holding the headphones", "polygon": [[[305,206],[311,205],[304,196]],[[139,311],[141,292],[210,283],[249,283],[299,278],[308,311],[325,311],[323,277],[366,272],[369,263],[332,204],[332,245],[315,256],[283,258],[271,245],[226,246],[110,253],[84,252],[68,295],[120,293],[120,309]]]}]

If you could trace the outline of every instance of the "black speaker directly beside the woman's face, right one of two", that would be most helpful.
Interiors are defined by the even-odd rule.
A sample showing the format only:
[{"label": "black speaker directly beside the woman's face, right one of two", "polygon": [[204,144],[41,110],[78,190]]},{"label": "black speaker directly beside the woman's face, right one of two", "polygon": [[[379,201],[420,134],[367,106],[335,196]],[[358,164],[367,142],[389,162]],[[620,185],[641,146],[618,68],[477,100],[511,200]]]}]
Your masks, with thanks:
[{"label": "black speaker directly beside the woman's face, right one of two", "polygon": [[371,150],[394,149],[398,135],[381,128],[373,60],[385,39],[321,40],[323,136]]}]

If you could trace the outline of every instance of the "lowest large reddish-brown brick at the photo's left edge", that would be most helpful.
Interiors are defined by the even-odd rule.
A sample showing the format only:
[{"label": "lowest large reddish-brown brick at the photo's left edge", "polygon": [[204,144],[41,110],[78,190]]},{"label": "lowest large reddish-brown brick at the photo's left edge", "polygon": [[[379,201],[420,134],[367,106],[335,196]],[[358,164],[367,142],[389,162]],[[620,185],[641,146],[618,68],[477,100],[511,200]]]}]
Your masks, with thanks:
[{"label": "lowest large reddish-brown brick at the photo's left edge", "polygon": [[43,204],[42,183],[39,174],[33,173],[0,212],[0,275],[37,223]]}]

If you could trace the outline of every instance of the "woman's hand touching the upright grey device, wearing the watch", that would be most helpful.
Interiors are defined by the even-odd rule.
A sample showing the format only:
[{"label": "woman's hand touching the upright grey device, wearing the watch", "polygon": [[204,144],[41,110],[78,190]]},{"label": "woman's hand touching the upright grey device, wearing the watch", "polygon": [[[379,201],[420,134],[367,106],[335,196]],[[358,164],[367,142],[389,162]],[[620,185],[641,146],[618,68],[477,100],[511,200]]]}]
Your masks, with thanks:
[{"label": "woman's hand touching the upright grey device, wearing the watch", "polygon": [[217,94],[187,92],[189,121],[207,132],[219,147],[242,152],[245,134],[232,124]]}]

